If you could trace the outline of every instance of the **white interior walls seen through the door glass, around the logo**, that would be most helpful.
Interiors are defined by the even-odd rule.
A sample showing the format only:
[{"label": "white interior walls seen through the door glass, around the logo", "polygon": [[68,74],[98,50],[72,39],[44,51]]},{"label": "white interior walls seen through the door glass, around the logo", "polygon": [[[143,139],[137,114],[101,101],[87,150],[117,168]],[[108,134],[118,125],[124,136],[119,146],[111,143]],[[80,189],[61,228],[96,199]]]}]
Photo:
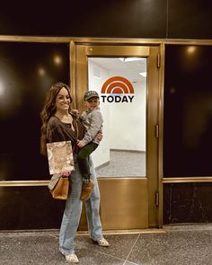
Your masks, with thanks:
[{"label": "white interior walls seen through the door glass, around the logo", "polygon": [[[89,90],[101,96],[102,84],[111,76],[121,75],[110,72],[93,61],[88,61]],[[98,75],[99,78],[93,76]],[[128,78],[132,83],[132,81]],[[104,119],[101,145],[93,152],[93,163],[99,166],[110,161],[110,149],[146,151],[146,83],[132,83],[133,102],[102,102]]]}]

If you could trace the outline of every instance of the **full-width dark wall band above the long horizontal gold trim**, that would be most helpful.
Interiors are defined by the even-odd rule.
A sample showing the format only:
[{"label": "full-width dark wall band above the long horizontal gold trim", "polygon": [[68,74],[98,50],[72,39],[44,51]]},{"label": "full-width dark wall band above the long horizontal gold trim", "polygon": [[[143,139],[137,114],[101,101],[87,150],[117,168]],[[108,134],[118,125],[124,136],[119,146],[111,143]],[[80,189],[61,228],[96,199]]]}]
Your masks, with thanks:
[{"label": "full-width dark wall band above the long horizontal gold trim", "polygon": [[212,39],[210,0],[4,1],[0,34]]}]

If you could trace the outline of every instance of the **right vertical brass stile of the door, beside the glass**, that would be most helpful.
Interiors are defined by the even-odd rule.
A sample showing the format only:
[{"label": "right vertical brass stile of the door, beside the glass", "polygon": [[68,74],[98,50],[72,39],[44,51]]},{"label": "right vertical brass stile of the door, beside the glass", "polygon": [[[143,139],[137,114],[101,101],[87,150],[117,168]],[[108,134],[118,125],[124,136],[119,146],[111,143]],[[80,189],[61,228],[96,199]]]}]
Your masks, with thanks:
[{"label": "right vertical brass stile of the door, beside the glass", "polygon": [[159,46],[150,47],[147,64],[147,134],[146,166],[148,179],[149,227],[158,225],[155,194],[158,191],[158,138],[155,137],[155,126],[158,124],[159,109]]}]

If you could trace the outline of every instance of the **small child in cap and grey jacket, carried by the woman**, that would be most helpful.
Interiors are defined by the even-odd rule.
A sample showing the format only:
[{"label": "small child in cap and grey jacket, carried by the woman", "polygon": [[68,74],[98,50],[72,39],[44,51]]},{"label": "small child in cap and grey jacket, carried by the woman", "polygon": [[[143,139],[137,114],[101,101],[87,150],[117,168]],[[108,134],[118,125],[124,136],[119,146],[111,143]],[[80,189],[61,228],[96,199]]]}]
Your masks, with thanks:
[{"label": "small child in cap and grey jacket, carried by the woman", "polygon": [[102,131],[103,123],[102,113],[99,109],[99,94],[95,91],[86,92],[84,94],[84,104],[87,110],[82,113],[81,119],[84,124],[85,134],[82,140],[77,140],[77,146],[81,148],[77,155],[77,161],[83,177],[81,200],[89,199],[92,194],[94,183],[90,179],[91,173],[87,159],[100,144],[96,135]]}]

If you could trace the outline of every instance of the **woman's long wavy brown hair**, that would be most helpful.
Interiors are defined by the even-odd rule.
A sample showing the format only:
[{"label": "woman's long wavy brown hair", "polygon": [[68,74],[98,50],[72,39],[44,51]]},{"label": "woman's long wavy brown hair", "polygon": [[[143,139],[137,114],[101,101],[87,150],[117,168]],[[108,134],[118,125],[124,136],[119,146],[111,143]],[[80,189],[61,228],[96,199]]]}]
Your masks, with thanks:
[{"label": "woman's long wavy brown hair", "polygon": [[[47,125],[50,117],[56,112],[56,97],[60,90],[65,87],[72,102],[70,87],[62,82],[57,82],[52,84],[49,92],[47,93],[46,100],[44,102],[43,110],[40,113],[40,118],[42,121],[41,125],[41,137],[40,137],[40,153],[42,155],[47,155]],[[71,106],[69,112],[71,111]]]}]

